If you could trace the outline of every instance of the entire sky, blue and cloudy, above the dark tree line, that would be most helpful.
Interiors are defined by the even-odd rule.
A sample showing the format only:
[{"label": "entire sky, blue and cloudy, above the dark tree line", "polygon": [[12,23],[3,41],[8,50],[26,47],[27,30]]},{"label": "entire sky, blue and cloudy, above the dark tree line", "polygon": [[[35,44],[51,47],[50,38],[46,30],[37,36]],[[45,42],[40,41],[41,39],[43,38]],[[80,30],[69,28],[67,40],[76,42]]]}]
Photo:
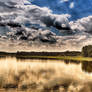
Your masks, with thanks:
[{"label": "entire sky, blue and cloudy, above the dark tree line", "polygon": [[81,50],[92,43],[91,0],[0,0],[0,51]]}]

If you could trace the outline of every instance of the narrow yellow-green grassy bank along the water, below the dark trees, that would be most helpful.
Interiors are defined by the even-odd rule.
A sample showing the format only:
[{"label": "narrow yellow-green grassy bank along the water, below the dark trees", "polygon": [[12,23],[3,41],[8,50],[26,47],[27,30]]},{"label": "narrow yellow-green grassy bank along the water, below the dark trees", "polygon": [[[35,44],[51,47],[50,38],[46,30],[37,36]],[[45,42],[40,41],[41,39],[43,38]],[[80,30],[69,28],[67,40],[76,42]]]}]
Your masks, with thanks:
[{"label": "narrow yellow-green grassy bank along the water, below the dark trees", "polygon": [[92,61],[90,57],[82,56],[17,56],[20,59],[53,59],[53,60],[74,60],[74,61]]}]

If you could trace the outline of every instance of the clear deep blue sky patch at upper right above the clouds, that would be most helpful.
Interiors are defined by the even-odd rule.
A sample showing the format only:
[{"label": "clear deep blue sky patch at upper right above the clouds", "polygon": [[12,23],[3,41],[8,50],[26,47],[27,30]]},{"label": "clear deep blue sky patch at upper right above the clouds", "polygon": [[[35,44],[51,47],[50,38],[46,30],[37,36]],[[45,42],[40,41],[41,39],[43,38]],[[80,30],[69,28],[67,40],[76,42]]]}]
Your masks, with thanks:
[{"label": "clear deep blue sky patch at upper right above the clouds", "polygon": [[87,17],[92,14],[91,0],[29,0],[40,7],[48,7],[55,14],[70,14],[71,20]]}]

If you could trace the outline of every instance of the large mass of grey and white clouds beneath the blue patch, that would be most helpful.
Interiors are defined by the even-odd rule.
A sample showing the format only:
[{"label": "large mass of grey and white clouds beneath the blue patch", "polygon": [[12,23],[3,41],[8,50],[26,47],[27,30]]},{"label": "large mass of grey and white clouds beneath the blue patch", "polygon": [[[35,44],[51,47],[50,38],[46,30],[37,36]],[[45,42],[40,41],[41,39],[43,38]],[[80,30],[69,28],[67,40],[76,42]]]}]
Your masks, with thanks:
[{"label": "large mass of grey and white clouds beneath the blue patch", "polygon": [[8,40],[8,49],[25,44],[28,48],[80,50],[83,45],[92,43],[92,16],[69,21],[69,14],[53,14],[47,7],[17,2],[0,1],[0,43],[4,45],[3,40]]}]

